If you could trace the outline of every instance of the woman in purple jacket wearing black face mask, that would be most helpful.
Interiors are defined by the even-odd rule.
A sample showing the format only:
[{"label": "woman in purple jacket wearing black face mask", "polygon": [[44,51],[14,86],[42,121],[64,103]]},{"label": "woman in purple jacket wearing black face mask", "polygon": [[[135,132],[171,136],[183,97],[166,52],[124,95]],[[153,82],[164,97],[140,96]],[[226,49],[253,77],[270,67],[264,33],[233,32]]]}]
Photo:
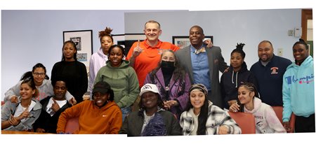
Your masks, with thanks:
[{"label": "woman in purple jacket wearing black face mask", "polygon": [[189,101],[191,81],[172,50],[162,52],[160,63],[147,74],[144,83],[157,85],[164,101],[164,108],[170,110],[179,120]]}]

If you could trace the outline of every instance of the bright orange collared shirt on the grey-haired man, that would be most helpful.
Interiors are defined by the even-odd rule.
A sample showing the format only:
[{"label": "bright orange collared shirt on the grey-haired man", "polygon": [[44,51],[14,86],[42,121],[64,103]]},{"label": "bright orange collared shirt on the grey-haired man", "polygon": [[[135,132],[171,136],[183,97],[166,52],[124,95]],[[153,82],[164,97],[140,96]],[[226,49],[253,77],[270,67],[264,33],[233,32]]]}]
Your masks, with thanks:
[{"label": "bright orange collared shirt on the grey-haired man", "polygon": [[[147,73],[157,67],[157,64],[160,62],[161,59],[162,50],[179,50],[176,45],[159,40],[157,45],[151,47],[150,45],[147,45],[146,40],[140,42],[140,48],[142,48],[143,51],[140,52],[140,55],[138,55],[138,57],[136,57],[133,67],[138,77],[139,87],[143,87]],[[127,60],[131,58],[133,50],[134,48],[136,48],[137,43],[138,42],[135,42],[131,46],[129,53],[126,56]]]}]

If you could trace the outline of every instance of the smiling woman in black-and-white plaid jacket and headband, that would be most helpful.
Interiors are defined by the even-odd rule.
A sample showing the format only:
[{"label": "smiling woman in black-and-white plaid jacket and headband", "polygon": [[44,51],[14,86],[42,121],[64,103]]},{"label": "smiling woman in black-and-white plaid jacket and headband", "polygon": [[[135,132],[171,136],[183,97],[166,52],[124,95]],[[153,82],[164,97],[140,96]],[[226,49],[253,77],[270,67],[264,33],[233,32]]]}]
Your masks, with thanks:
[{"label": "smiling woman in black-and-white plaid jacket and headband", "polygon": [[180,117],[180,126],[184,136],[241,134],[242,131],[235,120],[206,99],[209,92],[204,85],[192,85],[189,92],[190,101]]}]

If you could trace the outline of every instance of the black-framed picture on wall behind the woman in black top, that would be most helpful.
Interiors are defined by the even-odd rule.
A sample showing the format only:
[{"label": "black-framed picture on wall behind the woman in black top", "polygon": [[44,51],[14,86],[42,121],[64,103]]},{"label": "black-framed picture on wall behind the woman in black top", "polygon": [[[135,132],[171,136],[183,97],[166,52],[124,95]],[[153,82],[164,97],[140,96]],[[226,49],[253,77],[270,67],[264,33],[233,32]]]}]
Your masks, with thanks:
[{"label": "black-framed picture on wall behind the woman in black top", "polygon": [[88,68],[89,60],[93,54],[92,30],[63,31],[63,42],[73,41],[77,48],[77,60]]}]

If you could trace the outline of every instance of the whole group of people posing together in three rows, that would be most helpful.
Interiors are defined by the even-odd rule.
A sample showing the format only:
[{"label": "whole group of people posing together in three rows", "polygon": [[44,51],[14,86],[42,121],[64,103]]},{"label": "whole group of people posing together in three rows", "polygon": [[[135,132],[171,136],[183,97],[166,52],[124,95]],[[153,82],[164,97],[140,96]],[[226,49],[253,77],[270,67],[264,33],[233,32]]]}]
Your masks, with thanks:
[{"label": "whole group of people posing together in three rows", "polygon": [[[72,41],[62,46],[51,80],[45,66],[35,65],[6,92],[1,129],[64,134],[67,120],[78,117],[74,134],[241,134],[229,110],[252,113],[256,133],[293,129],[291,113],[296,132],[315,132],[313,59],[303,39],[293,46],[295,62],[274,55],[272,43],[261,41],[259,60],[249,71],[244,43],[232,50],[228,66],[197,25],[189,31],[191,45],[179,49],[160,41],[160,24],[150,20],[146,39],[133,43],[126,56],[111,32],[99,32],[101,47],[90,59],[89,80]],[[91,98],[84,101],[87,88]],[[139,109],[132,110],[136,104]],[[271,106],[284,107],[283,122]]]}]

